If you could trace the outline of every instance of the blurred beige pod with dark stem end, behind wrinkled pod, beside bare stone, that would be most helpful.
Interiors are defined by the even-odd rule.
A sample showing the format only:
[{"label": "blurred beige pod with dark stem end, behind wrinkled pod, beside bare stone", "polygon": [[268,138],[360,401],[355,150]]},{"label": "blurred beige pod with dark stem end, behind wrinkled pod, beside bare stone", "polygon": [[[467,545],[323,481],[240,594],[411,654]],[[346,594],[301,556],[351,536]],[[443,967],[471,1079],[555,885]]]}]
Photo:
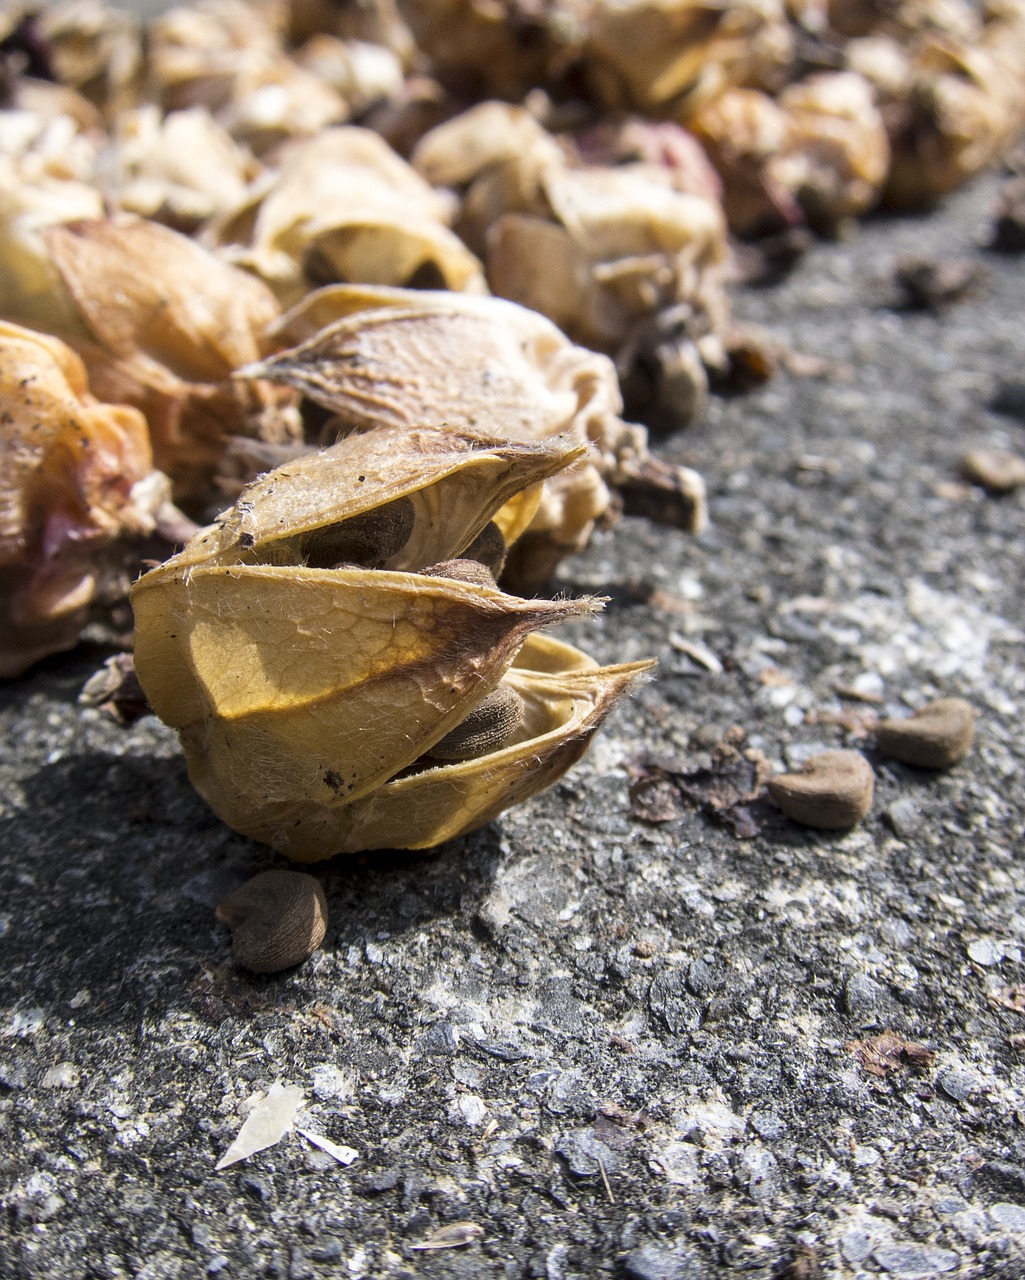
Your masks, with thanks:
[{"label": "blurred beige pod with dark stem end, behind wrinkled pod, beside bare stone", "polygon": [[[413,163],[433,180],[466,186],[457,228],[485,253],[495,293],[612,356],[628,403],[636,385],[653,422],[679,426],[697,413],[708,390],[701,357],[720,362],[728,307],[726,223],[691,170],[672,154],[664,164],[582,165],[527,111],[502,102],[431,129]],[[649,342],[665,312],[672,339]]]}]

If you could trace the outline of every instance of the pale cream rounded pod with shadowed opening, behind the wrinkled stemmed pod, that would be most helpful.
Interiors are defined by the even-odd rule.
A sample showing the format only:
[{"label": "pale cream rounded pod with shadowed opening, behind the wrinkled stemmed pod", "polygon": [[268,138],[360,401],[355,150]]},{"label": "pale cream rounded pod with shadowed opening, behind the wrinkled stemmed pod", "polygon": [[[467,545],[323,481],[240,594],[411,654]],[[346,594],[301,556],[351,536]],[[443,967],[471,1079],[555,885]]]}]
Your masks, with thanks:
[{"label": "pale cream rounded pod with shadowed opening, behind the wrinkled stemmed pod", "polygon": [[450,202],[383,138],[344,127],[289,147],[278,173],[210,236],[285,305],[331,280],[484,292],[449,215]]}]

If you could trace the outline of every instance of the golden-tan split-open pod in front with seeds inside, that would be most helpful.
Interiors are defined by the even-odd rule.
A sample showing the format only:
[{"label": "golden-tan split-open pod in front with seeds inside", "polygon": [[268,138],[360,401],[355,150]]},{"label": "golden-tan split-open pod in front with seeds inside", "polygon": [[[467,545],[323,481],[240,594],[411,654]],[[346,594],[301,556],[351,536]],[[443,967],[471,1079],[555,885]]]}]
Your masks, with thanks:
[{"label": "golden-tan split-open pod in front with seeds inside", "polygon": [[[596,602],[521,600],[465,562],[500,559],[580,453],[441,429],[352,436],[256,481],[146,573],[136,669],[211,808],[316,860],[450,838],[568,768],[649,664],[596,668],[558,645],[511,672],[530,632]],[[512,718],[514,699],[498,716],[488,703],[503,681]],[[467,750],[485,754],[452,759]]]}]

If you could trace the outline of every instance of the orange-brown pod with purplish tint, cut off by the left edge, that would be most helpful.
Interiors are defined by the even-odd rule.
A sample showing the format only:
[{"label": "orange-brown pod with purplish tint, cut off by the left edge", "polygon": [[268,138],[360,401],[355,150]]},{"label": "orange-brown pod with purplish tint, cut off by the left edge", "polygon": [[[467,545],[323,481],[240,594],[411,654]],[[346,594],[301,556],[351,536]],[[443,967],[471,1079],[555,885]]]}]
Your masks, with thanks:
[{"label": "orange-brown pod with purplish tint, cut off by the left edge", "polygon": [[146,422],[104,404],[58,338],[0,323],[0,676],[72,648],[128,588],[168,502]]}]

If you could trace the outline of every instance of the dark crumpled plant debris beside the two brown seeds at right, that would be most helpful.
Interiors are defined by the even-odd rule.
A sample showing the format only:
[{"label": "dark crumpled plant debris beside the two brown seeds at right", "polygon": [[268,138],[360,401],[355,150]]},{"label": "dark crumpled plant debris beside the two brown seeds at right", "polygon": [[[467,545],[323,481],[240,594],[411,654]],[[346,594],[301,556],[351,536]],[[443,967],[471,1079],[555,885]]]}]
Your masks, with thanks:
[{"label": "dark crumpled plant debris beside the two brown seeds at right", "polygon": [[759,823],[749,808],[761,792],[772,768],[746,735],[732,728],[711,751],[708,767],[688,768],[681,760],[650,755],[630,765],[630,813],[640,822],[672,822],[685,809],[697,809],[727,827],[738,840],[751,840]]}]

